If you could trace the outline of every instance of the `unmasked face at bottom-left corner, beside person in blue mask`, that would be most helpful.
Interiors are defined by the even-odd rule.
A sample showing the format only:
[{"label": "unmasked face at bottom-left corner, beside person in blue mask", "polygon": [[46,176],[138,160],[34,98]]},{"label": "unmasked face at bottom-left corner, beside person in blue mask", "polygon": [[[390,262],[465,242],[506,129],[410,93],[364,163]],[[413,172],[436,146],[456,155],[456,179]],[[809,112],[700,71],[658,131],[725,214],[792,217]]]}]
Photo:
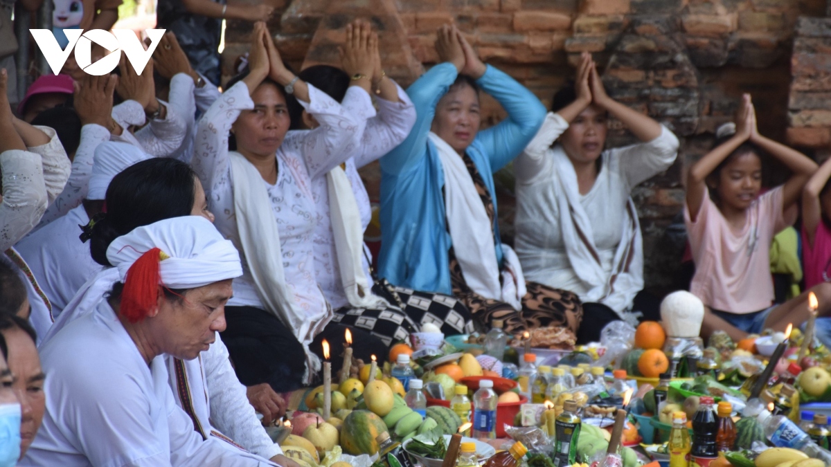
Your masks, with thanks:
[{"label": "unmasked face at bottom-left corner, beside person in blue mask", "polygon": [[2,332],[8,347],[8,369],[14,375],[12,388],[20,401],[22,419],[20,422],[20,458],[26,454],[29,445],[37,435],[46,409],[46,395],[43,381],[46,376],[41,369],[41,359],[32,337],[17,327]]}]

